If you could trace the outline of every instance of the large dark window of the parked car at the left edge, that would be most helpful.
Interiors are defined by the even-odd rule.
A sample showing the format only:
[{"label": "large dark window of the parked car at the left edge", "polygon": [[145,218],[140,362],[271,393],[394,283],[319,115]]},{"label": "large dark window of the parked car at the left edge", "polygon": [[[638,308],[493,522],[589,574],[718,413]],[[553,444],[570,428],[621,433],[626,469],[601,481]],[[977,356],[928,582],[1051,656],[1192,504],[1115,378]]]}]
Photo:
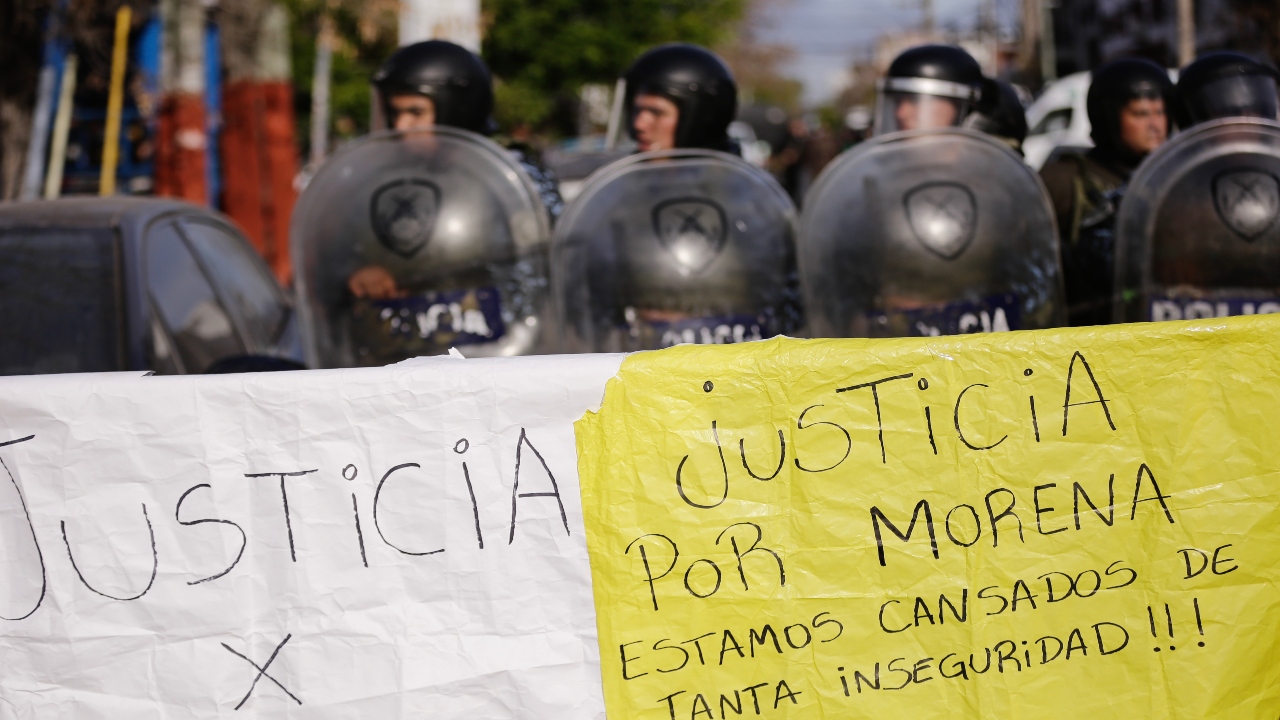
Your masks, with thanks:
[{"label": "large dark window of the parked car at the left edge", "polygon": [[124,369],[111,228],[0,231],[0,373]]}]

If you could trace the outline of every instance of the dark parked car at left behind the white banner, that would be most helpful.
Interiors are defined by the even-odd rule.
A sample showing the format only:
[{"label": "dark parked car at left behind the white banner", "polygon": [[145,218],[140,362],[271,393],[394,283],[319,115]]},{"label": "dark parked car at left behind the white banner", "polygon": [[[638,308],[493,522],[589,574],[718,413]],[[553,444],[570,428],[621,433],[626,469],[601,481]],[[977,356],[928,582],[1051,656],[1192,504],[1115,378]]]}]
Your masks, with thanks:
[{"label": "dark parked car at left behind the white banner", "polygon": [[0,204],[0,374],[297,366],[297,320],[230,222],[173,200]]}]

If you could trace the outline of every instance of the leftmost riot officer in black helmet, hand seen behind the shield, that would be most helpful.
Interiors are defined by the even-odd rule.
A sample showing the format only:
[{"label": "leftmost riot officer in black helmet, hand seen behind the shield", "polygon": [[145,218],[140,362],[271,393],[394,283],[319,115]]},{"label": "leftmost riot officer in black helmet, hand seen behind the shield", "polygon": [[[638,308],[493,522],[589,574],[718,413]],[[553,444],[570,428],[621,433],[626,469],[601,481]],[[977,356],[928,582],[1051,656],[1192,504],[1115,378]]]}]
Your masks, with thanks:
[{"label": "leftmost riot officer in black helmet, hand seen behind the shield", "polygon": [[[494,129],[493,76],[479,55],[461,45],[444,40],[406,45],[374,73],[372,85],[385,123],[375,129],[406,132],[447,126],[485,136]],[[554,223],[564,209],[556,178],[527,146],[507,150],[538,186]],[[402,295],[396,278],[381,265],[366,265],[352,273],[347,290],[369,300]]]}]

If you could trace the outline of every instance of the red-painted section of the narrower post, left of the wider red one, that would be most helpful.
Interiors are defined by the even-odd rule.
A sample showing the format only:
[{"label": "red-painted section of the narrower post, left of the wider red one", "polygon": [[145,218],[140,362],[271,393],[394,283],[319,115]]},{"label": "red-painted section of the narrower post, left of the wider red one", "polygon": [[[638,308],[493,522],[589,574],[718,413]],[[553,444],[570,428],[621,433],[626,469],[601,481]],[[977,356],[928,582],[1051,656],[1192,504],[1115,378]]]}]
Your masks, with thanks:
[{"label": "red-painted section of the narrower post, left of the wider red one", "polygon": [[169,95],[160,104],[157,124],[155,193],[207,205],[205,101],[198,95]]}]

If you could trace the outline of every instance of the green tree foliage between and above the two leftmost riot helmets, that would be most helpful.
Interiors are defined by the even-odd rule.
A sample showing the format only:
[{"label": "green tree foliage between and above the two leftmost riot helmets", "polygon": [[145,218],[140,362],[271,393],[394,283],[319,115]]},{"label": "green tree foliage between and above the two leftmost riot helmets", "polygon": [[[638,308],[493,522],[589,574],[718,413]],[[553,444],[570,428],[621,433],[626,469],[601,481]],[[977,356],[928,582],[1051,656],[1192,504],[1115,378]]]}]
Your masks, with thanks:
[{"label": "green tree foliage between and above the two leftmost riot helmets", "polygon": [[497,76],[498,120],[556,135],[576,129],[585,83],[613,83],[662,42],[718,45],[746,0],[481,0],[483,55]]}]

